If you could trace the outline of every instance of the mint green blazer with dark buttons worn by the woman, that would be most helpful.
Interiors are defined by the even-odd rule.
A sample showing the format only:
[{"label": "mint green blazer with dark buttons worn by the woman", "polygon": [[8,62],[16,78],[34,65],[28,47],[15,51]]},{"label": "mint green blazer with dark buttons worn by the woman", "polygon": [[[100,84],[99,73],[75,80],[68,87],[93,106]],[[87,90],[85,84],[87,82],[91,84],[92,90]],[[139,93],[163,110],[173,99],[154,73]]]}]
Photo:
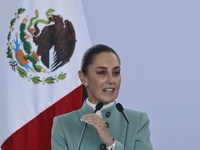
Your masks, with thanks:
[{"label": "mint green blazer with dark buttons worn by the woman", "polygon": [[[84,126],[80,119],[83,115],[92,112],[92,108],[84,103],[80,110],[55,117],[52,127],[52,150],[76,150]],[[114,150],[123,150],[127,126],[124,117],[118,112],[115,105],[103,110],[102,113],[108,129],[115,139]],[[153,150],[147,114],[129,109],[124,109],[124,113],[129,120],[126,149]],[[87,125],[80,150],[100,150],[102,144],[94,127]]]}]

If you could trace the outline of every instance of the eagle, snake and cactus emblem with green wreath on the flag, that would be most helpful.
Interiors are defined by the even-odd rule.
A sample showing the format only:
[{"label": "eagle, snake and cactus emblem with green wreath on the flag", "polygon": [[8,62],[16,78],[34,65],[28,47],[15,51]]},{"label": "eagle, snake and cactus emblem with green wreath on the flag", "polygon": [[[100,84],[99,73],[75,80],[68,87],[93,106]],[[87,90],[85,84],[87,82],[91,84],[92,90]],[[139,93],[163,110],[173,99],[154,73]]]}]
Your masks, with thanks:
[{"label": "eagle, snake and cactus emblem with green wreath on the flag", "polygon": [[54,15],[52,8],[46,11],[46,18],[40,18],[38,10],[33,17],[24,16],[25,11],[25,8],[19,8],[10,21],[6,53],[12,70],[34,84],[64,80],[66,73],[54,77],[47,74],[63,67],[73,55],[76,37],[72,23]]}]

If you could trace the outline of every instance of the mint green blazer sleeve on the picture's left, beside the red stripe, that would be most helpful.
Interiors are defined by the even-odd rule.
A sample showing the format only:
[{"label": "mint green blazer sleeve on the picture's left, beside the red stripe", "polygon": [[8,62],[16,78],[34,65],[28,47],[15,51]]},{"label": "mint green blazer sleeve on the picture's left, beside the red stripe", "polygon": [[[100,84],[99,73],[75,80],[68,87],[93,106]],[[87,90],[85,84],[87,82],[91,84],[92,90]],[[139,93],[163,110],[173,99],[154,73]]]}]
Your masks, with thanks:
[{"label": "mint green blazer sleeve on the picture's left, beside the red stripe", "polygon": [[68,150],[64,131],[57,117],[54,118],[51,136],[52,150]]}]

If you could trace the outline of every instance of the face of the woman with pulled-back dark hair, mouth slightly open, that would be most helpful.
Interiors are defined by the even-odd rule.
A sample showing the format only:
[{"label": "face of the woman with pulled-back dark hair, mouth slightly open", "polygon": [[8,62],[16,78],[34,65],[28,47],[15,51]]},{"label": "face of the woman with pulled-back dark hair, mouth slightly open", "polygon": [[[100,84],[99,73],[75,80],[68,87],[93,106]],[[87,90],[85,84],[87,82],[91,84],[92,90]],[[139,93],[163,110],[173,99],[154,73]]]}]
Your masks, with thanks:
[{"label": "face of the woman with pulled-back dark hair, mouth slightly open", "polygon": [[113,102],[118,96],[121,83],[120,62],[117,56],[108,52],[96,55],[84,78],[91,103]]}]

